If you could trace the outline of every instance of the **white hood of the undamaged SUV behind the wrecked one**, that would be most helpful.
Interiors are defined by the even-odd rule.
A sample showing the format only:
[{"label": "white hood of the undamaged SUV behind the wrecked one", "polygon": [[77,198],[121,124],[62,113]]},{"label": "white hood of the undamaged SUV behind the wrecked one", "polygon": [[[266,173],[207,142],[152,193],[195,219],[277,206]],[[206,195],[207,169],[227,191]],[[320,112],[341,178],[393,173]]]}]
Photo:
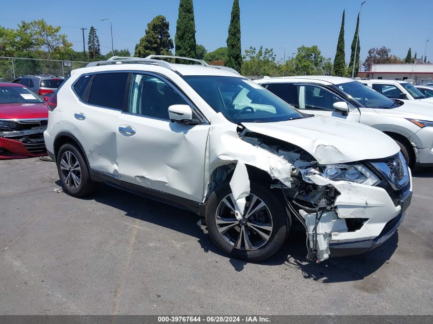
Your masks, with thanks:
[{"label": "white hood of the undamaged SUV behind the wrecked one", "polygon": [[399,107],[390,109],[375,109],[382,116],[433,120],[433,103],[420,100],[401,100]]}]

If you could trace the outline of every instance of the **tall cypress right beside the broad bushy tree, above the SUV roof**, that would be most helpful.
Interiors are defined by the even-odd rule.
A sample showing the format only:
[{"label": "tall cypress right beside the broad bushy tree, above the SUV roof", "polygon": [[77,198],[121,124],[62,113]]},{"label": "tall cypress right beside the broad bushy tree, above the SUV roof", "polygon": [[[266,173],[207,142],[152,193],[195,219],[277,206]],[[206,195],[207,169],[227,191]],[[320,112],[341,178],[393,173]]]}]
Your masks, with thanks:
[{"label": "tall cypress right beside the broad bushy tree, above the SUV roof", "polygon": [[196,57],[193,0],[180,0],[174,40],[177,56]]}]

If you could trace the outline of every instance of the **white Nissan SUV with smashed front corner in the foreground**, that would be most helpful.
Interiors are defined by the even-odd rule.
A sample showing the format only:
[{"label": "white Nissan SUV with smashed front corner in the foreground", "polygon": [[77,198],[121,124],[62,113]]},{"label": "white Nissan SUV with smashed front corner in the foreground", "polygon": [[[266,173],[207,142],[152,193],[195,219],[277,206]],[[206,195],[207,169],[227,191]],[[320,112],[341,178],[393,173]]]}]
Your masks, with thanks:
[{"label": "white Nissan SUV with smashed front corner in the foreground", "polygon": [[67,193],[105,182],[194,211],[248,261],[277,252],[295,221],[316,262],[397,230],[412,185],[391,138],[303,114],[231,69],[159,58],[90,63],[50,97],[44,136]]}]

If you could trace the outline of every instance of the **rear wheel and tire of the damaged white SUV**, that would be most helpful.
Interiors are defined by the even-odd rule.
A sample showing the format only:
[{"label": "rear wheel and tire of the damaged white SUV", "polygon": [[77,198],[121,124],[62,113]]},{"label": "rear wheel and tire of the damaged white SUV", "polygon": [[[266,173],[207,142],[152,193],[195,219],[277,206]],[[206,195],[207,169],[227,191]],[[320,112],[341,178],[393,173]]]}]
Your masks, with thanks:
[{"label": "rear wheel and tire of the damaged white SUV", "polygon": [[72,143],[64,144],[57,154],[57,171],[64,191],[73,197],[89,195],[94,189],[81,151]]}]

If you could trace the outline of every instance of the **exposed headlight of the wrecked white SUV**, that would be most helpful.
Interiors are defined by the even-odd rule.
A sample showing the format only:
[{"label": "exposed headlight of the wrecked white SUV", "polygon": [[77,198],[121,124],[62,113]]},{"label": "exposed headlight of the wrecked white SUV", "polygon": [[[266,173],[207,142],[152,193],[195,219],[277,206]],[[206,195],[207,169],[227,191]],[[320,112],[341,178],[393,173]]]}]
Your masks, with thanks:
[{"label": "exposed headlight of the wrecked white SUV", "polygon": [[372,171],[361,164],[328,164],[321,176],[333,181],[350,181],[375,186],[380,181]]}]

